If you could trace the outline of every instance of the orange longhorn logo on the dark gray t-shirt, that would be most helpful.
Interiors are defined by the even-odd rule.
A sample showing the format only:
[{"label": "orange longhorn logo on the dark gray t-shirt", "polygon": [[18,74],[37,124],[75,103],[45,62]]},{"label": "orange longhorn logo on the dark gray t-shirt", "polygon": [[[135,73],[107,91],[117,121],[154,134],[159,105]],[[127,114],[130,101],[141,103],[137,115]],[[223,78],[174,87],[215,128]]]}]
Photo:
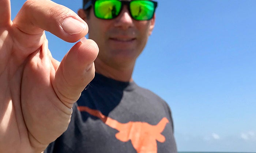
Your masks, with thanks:
[{"label": "orange longhorn logo on the dark gray t-shirt", "polygon": [[146,122],[120,123],[110,117],[103,115],[98,110],[90,109],[86,106],[78,106],[78,110],[100,118],[106,125],[118,130],[116,138],[127,142],[131,140],[132,146],[137,153],[157,153],[157,141],[165,142],[165,137],[161,134],[169,123],[166,117],[162,118],[157,125],[150,125]]}]

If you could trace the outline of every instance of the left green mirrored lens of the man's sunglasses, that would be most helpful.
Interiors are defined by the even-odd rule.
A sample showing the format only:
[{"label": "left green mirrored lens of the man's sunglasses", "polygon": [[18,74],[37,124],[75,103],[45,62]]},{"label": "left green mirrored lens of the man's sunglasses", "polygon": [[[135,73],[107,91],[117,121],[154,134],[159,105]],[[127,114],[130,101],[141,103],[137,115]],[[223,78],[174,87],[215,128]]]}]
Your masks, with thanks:
[{"label": "left green mirrored lens of the man's sunglasses", "polygon": [[97,0],[94,4],[95,16],[100,19],[113,19],[119,14],[121,5],[118,0]]}]

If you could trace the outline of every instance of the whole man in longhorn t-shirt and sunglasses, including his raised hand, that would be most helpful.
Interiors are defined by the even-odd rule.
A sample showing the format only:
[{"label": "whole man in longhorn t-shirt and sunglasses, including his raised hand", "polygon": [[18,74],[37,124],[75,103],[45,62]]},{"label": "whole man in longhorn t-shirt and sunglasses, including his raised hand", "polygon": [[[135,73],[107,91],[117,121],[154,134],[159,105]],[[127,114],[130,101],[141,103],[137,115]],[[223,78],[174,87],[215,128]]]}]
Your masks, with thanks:
[{"label": "whole man in longhorn t-shirt and sunglasses, including his raised hand", "polygon": [[49,0],[26,1],[11,21],[0,0],[0,152],[41,152],[56,138],[45,152],[177,152],[169,107],[131,77],[156,4],[86,2],[78,14],[98,47],[82,39],[59,63],[44,30],[76,42],[86,23]]}]

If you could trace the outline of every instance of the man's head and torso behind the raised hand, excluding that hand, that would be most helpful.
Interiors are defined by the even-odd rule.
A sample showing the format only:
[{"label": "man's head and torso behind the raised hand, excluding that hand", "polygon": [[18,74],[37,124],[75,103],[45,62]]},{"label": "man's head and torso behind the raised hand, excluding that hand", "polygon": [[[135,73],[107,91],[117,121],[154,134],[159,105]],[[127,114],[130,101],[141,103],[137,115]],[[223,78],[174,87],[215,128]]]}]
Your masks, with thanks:
[{"label": "man's head and torso behind the raised hand, excluding that hand", "polygon": [[99,47],[96,74],[75,103],[68,130],[47,152],[175,152],[169,107],[132,80],[157,3],[84,0],[83,6],[78,15]]}]

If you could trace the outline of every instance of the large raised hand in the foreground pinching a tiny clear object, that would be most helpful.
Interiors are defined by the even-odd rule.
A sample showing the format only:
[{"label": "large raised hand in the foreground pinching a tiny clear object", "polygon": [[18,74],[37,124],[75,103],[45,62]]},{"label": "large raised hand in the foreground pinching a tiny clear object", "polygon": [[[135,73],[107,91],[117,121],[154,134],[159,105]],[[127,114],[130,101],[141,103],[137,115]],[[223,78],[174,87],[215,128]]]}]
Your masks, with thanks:
[{"label": "large raised hand in the foreground pinching a tiny clear object", "polygon": [[70,121],[73,103],[94,77],[98,46],[76,43],[53,59],[45,32],[67,42],[87,34],[75,12],[50,0],[28,0],[11,21],[0,0],[0,152],[42,152]]}]

